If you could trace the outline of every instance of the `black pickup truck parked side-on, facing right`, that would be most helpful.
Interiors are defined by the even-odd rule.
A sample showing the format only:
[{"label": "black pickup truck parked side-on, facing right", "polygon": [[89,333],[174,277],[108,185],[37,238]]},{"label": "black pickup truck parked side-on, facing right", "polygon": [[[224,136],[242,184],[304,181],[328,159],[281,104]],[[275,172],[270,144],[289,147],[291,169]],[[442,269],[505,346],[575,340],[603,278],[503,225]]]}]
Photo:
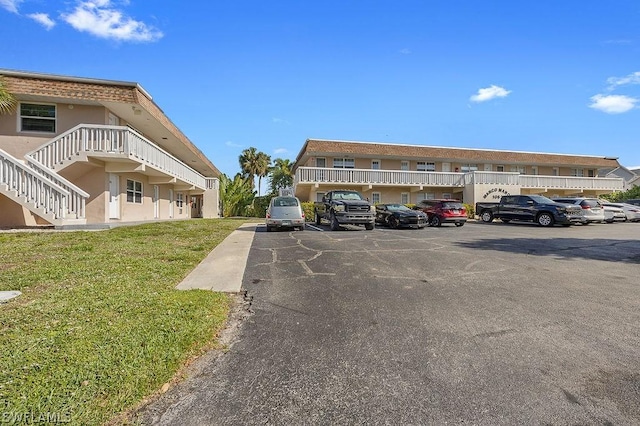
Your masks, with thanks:
[{"label": "black pickup truck parked side-on, facing right", "polygon": [[476,214],[483,222],[518,220],[537,222],[541,226],[581,223],[581,210],[578,206],[556,203],[541,195],[505,195],[499,203],[476,203]]}]

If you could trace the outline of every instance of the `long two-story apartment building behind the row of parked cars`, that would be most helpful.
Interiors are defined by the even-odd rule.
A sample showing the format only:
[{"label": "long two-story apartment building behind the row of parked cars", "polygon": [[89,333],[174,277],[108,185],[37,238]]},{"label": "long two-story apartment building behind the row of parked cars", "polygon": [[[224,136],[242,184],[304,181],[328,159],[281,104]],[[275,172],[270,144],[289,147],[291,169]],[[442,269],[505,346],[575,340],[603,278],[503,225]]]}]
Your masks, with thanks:
[{"label": "long two-story apartment building behind the row of parked cars", "polygon": [[294,187],[307,201],[338,188],[356,189],[373,203],[596,197],[623,190],[623,179],[599,177],[617,167],[611,157],[308,139],[294,163]]}]

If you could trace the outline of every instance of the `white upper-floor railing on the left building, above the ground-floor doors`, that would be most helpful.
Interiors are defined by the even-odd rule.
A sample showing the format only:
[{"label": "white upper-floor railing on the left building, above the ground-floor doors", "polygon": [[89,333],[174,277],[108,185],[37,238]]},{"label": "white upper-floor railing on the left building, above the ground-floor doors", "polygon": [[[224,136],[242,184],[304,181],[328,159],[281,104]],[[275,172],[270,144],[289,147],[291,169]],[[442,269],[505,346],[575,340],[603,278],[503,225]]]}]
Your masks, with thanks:
[{"label": "white upper-floor railing on the left building, above the ground-floor doors", "polygon": [[55,170],[74,161],[74,157],[92,154],[121,155],[198,188],[206,188],[203,175],[126,126],[80,124],[27,156]]}]

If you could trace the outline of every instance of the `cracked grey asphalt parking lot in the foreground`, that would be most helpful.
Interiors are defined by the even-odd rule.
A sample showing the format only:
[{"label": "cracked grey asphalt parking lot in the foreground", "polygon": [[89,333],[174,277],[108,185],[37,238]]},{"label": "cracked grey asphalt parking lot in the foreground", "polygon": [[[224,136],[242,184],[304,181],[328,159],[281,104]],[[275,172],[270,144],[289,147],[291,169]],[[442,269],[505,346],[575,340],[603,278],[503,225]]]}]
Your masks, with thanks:
[{"label": "cracked grey asphalt parking lot in the foreground", "polygon": [[154,424],[640,424],[640,223],[265,232]]}]

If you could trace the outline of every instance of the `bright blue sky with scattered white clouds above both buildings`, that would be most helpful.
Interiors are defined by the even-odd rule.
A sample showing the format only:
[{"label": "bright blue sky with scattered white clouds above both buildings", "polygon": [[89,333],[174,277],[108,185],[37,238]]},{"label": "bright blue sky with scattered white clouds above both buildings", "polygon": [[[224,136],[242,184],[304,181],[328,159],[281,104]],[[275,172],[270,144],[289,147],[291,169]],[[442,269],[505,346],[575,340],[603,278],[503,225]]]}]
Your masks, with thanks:
[{"label": "bright blue sky with scattered white clouds above both buildings", "polygon": [[0,68],[138,82],[228,175],[307,138],[634,167],[639,22],[637,0],[0,0]]}]

